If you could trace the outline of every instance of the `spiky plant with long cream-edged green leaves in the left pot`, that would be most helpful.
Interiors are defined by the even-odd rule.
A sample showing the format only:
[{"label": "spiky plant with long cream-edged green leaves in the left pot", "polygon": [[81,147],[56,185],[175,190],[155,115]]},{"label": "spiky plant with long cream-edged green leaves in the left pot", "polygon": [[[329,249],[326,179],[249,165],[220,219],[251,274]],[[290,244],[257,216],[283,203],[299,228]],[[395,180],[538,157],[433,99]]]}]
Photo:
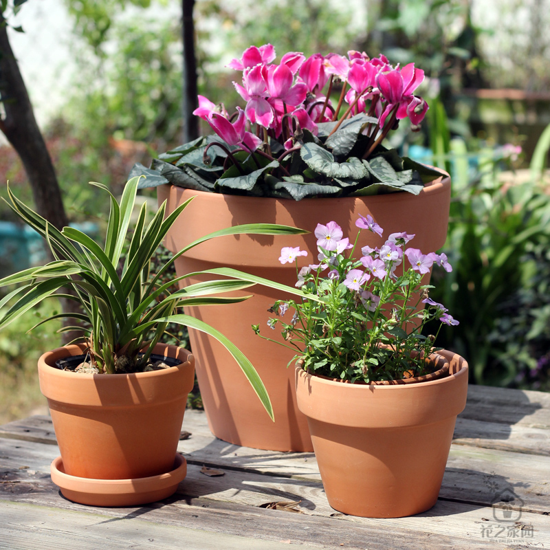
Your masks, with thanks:
[{"label": "spiky plant with long cream-edged green leaves in the left pot", "polygon": [[[131,179],[120,203],[106,187],[94,184],[111,197],[111,213],[107,223],[104,245],[74,228],[60,232],[45,219],[19,201],[8,188],[10,208],[47,241],[55,260],[43,267],[32,267],[0,280],[0,287],[13,287],[0,300],[0,328],[16,322],[21,315],[39,305],[63,287],[76,293],[73,297],[82,307],[82,313],[55,314],[49,320],[73,318],[83,323],[82,331],[98,370],[105,373],[138,372],[148,361],[153,347],[166,331],[169,323],[192,327],[219,340],[241,366],[254,391],[272,416],[269,396],[258,373],[243,353],[223,334],[201,320],[177,314],[177,308],[186,305],[216,305],[240,302],[248,297],[217,297],[212,294],[230,292],[261,283],[285,290],[285,285],[248,276],[232,270],[210,270],[208,273],[229,276],[230,280],[207,281],[172,291],[171,287],[191,274],[179,276],[162,284],[162,276],[177,257],[196,245],[217,236],[230,234],[300,234],[303,230],[285,225],[249,224],[217,231],[194,241],[170,259],[155,274],[151,273],[151,257],[173,223],[190,200],[166,215],[166,203],[157,210],[146,225],[146,205],[142,206],[133,232],[129,223],[139,178]],[[123,249],[128,250],[122,259]],[[119,262],[121,261],[121,265]],[[300,294],[294,288],[287,289]],[[67,296],[69,297],[69,296]],[[45,321],[43,321],[45,322]],[[39,325],[41,325],[39,323]],[[74,329],[65,327],[64,330]],[[151,334],[152,331],[152,334]],[[142,356],[138,353],[144,350]]]}]

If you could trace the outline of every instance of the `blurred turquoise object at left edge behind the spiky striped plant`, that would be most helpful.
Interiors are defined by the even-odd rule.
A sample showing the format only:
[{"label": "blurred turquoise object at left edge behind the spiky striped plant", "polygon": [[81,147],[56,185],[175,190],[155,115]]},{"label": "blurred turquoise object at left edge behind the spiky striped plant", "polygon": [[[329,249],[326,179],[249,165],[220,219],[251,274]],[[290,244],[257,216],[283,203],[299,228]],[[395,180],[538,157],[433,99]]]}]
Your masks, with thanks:
[{"label": "blurred turquoise object at left edge behind the spiky striped plant", "polygon": [[[71,227],[98,240],[99,228],[96,223],[71,223]],[[0,277],[46,262],[45,241],[39,233],[28,225],[0,221]]]}]

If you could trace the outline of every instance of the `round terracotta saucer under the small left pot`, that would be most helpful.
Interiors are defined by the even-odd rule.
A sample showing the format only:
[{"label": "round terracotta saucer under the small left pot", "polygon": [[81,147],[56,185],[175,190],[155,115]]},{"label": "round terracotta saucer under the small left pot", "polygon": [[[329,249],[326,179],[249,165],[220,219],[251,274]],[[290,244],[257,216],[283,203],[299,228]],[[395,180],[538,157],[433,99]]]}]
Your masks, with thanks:
[{"label": "round terracotta saucer under the small left pot", "polygon": [[50,467],[52,481],[61,494],[79,504],[90,506],[135,506],[168,498],[176,492],[187,474],[187,462],[176,454],[174,469],[158,476],[135,479],[90,479],[65,474],[58,456]]}]

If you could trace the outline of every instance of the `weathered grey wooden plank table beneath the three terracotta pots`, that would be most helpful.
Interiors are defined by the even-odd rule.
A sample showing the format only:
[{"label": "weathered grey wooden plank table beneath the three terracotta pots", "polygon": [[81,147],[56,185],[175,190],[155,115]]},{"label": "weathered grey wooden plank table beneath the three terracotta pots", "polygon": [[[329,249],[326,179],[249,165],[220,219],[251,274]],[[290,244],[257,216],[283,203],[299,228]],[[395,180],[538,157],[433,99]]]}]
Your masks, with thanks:
[{"label": "weathered grey wooden plank table beneath the three terracotta pots", "polygon": [[49,417],[1,426],[0,549],[550,548],[549,393],[470,386],[437,505],[400,519],[331,509],[312,453],[225,443],[197,410],[186,412],[183,429],[188,474],[175,496],[95,508],[52,484]]}]

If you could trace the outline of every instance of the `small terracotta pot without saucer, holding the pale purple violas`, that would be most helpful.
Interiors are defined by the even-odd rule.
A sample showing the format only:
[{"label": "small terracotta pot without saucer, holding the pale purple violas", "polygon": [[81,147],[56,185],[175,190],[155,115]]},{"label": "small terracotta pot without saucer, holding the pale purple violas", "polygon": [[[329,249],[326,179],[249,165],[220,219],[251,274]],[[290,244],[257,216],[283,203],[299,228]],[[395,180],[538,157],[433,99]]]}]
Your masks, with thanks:
[{"label": "small terracotta pot without saucer, holding the pale purple violas", "polygon": [[298,407],[331,507],[399,518],[436,503],[468,374],[459,355],[434,359],[448,362],[450,375],[416,384],[342,384],[296,367]]}]

